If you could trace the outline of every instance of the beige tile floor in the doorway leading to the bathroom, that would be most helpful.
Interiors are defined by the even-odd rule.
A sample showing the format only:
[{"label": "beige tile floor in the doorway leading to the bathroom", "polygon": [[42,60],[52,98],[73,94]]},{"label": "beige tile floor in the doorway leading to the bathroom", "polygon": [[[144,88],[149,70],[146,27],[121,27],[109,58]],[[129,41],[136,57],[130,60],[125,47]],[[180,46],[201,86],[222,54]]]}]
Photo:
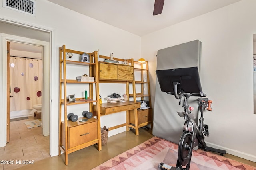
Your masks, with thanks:
[{"label": "beige tile floor in the doorway leading to the bathroom", "polygon": [[15,164],[0,164],[0,170],[12,170],[25,166],[16,164],[16,161],[23,160],[43,160],[49,158],[49,136],[42,135],[42,127],[28,129],[25,121],[29,119],[10,122],[10,142],[5,147],[0,148],[0,160],[14,161]]}]

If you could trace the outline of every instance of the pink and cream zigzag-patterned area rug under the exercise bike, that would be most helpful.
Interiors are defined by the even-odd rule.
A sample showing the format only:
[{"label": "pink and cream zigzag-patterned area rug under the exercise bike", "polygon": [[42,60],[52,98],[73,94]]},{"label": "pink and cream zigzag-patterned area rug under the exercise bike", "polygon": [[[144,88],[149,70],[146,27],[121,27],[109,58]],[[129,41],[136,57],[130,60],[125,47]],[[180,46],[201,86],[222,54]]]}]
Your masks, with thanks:
[{"label": "pink and cream zigzag-patterned area rug under the exercise bike", "polygon": [[[161,162],[175,167],[177,158],[178,145],[153,137],[93,170],[157,170]],[[190,170],[256,170],[256,167],[198,149],[192,153]]]}]

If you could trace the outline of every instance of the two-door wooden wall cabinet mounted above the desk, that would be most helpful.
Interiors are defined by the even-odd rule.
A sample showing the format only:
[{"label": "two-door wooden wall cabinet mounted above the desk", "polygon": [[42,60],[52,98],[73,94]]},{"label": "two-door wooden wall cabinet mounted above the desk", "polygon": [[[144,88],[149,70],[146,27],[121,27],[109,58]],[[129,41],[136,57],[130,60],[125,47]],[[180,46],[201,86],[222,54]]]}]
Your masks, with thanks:
[{"label": "two-door wooden wall cabinet mounted above the desk", "polygon": [[99,62],[100,80],[133,80],[133,66]]}]

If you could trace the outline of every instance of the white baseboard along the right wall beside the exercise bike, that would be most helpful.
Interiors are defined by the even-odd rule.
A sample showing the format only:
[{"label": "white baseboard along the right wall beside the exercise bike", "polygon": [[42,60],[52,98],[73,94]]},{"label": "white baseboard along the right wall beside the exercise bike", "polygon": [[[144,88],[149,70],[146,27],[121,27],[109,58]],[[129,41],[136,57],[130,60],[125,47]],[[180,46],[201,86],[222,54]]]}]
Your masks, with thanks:
[{"label": "white baseboard along the right wall beside the exercise bike", "polygon": [[206,143],[207,143],[207,146],[209,146],[209,147],[226,150],[228,154],[232,154],[234,156],[238,156],[240,158],[247,159],[247,160],[250,160],[252,162],[256,162],[256,155],[247,154],[245,152],[240,152],[238,150],[222,147],[220,145],[216,145],[216,144],[213,144],[213,143],[208,143],[208,142],[206,142]]}]

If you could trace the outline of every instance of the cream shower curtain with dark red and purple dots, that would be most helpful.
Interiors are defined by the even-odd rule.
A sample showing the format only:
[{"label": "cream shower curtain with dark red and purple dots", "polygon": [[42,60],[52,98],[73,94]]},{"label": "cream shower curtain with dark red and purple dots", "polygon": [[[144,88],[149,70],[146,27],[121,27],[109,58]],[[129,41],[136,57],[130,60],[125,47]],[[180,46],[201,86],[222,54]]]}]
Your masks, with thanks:
[{"label": "cream shower curtain with dark red and purple dots", "polygon": [[10,111],[41,104],[42,60],[10,57]]}]

